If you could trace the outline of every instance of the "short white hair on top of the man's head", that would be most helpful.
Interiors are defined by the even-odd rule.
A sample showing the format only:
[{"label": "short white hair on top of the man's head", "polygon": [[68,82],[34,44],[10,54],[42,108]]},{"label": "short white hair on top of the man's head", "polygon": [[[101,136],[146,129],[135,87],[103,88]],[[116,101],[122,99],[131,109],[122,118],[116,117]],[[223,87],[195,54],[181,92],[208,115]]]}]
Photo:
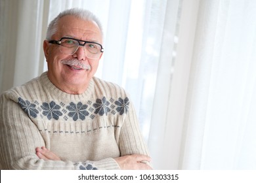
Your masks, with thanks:
[{"label": "short white hair on top of the man's head", "polygon": [[72,15],[77,18],[81,18],[82,20],[85,20],[85,21],[95,22],[98,25],[98,27],[100,28],[100,32],[103,35],[102,25],[101,25],[100,21],[98,20],[98,18],[95,16],[95,14],[93,14],[89,10],[85,10],[85,9],[81,9],[81,8],[71,8],[68,10],[64,10],[63,12],[60,12],[60,14],[58,14],[58,16],[56,16],[56,18],[54,18],[51,21],[51,23],[48,26],[47,34],[46,34],[47,41],[50,41],[51,37],[54,35],[54,33],[56,33],[57,26],[58,26],[58,20],[60,20],[60,18],[62,18],[63,16],[66,16],[66,15]]}]

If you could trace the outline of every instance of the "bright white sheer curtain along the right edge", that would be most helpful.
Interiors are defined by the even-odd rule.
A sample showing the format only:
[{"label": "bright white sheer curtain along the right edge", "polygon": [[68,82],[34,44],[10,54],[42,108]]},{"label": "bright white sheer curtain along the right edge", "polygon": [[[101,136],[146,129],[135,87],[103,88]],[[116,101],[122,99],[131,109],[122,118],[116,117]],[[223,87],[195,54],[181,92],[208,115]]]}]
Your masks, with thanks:
[{"label": "bright white sheer curtain along the right edge", "polygon": [[200,1],[182,169],[256,169],[256,1]]}]

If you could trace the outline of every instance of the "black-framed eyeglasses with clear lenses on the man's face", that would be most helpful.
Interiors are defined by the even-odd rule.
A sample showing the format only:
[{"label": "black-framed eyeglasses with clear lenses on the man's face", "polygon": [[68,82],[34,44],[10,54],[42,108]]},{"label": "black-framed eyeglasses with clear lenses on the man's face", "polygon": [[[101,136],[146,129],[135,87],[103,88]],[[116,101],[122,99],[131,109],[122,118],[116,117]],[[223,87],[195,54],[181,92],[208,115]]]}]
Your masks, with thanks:
[{"label": "black-framed eyeglasses with clear lenses on the man's face", "polygon": [[87,58],[91,59],[100,58],[101,53],[104,52],[102,45],[98,44],[97,42],[83,41],[70,37],[62,37],[60,41],[51,40],[49,41],[49,43],[59,44],[60,52],[67,55],[75,54],[79,46],[83,46],[83,49],[85,50],[85,55],[87,56]]}]

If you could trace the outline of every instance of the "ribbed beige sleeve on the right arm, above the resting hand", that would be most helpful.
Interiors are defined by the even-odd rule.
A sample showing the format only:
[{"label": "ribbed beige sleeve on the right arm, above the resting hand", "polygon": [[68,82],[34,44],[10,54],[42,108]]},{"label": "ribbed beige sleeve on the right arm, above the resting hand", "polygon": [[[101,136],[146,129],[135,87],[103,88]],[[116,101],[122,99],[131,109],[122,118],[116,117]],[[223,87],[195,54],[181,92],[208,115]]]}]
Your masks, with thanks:
[{"label": "ribbed beige sleeve on the right arm, above the resting hand", "polygon": [[[129,101],[129,110],[123,120],[123,124],[121,125],[119,149],[121,156],[131,154],[143,154],[150,156],[148,147],[146,146],[146,142],[144,141],[140,131],[135,108],[131,101]],[[146,163],[152,167],[151,163]]]}]

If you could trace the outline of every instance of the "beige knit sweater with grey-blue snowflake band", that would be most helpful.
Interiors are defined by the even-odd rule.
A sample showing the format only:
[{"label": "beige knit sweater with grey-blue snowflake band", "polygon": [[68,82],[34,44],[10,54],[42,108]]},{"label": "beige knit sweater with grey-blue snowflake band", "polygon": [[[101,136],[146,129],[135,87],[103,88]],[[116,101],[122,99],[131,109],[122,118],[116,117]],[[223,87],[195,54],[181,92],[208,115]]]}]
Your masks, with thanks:
[{"label": "beige knit sweater with grey-blue snowflake band", "polygon": [[[125,91],[93,78],[80,95],[56,88],[47,73],[0,97],[0,169],[119,169],[113,158],[146,154]],[[62,161],[37,158],[45,146]]]}]

